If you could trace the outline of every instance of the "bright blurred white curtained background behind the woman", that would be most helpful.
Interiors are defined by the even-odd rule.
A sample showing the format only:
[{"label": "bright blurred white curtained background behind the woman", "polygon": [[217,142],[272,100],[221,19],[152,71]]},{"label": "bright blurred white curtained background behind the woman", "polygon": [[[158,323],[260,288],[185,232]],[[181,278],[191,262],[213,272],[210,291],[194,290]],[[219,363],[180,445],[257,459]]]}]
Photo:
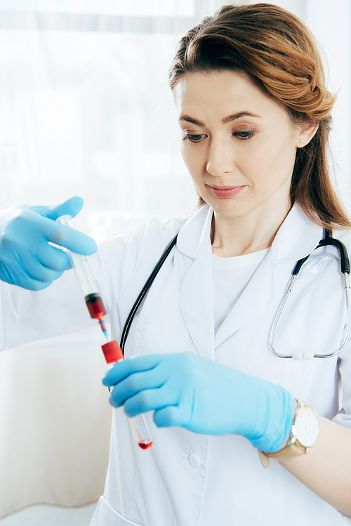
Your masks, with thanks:
[{"label": "bright blurred white curtained background behind the woman", "polygon": [[[167,72],[180,37],[222,4],[0,0],[0,209],[80,195],[72,226],[96,241],[192,213]],[[270,4],[324,50],[338,92],[333,173],[350,211],[350,0]],[[110,440],[100,345],[96,328],[0,353],[0,526],[88,525]]]}]

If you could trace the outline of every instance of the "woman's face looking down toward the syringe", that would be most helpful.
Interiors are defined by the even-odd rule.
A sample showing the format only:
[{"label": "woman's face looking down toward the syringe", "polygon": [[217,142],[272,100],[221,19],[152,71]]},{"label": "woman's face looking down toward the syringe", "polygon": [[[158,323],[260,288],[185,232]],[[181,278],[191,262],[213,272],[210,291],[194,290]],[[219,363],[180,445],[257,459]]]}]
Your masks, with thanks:
[{"label": "woman's face looking down toward the syringe", "polygon": [[244,72],[187,73],[175,87],[182,154],[197,192],[225,218],[289,211],[301,134]]}]

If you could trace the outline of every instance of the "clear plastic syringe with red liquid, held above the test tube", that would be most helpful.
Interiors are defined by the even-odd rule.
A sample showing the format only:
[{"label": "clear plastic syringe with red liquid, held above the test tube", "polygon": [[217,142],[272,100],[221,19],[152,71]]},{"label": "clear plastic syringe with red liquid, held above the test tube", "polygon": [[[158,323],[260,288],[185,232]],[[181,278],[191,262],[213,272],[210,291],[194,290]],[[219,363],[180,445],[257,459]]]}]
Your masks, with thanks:
[{"label": "clear plastic syringe with red liquid, held above the test tube", "polygon": [[[71,219],[71,216],[61,216],[56,221],[62,225],[68,226],[68,221]],[[81,287],[81,292],[84,296],[84,301],[88,307],[89,314],[95,320],[98,320],[102,332],[107,336],[107,330],[103,317],[106,314],[104,304],[102,303],[102,298],[96,284],[93,274],[91,273],[91,268],[89,267],[88,260],[85,256],[81,254],[76,254],[68,249],[66,249],[69,261],[71,262],[74,273],[77,277],[79,286]]]}]

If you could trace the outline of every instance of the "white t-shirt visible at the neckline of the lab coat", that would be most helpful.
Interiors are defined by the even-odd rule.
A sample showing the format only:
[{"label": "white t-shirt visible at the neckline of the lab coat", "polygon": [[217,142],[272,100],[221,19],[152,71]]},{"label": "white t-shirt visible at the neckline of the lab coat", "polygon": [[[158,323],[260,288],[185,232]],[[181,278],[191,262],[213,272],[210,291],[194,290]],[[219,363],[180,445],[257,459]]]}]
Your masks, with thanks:
[{"label": "white t-shirt visible at the neckline of the lab coat", "polygon": [[223,324],[269,249],[220,258],[212,254],[212,290],[215,334]]}]

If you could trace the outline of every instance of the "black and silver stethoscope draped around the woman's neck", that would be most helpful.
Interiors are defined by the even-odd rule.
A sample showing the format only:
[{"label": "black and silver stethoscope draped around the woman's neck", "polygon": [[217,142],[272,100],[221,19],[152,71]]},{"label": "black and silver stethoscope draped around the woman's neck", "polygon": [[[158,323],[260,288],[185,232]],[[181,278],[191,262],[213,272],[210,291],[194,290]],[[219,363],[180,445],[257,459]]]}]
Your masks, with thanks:
[{"label": "black and silver stethoscope draped around the woman's neck", "polygon": [[[129,313],[129,315],[127,317],[126,323],[124,325],[124,329],[123,329],[122,334],[121,334],[120,346],[121,346],[121,351],[122,351],[123,354],[124,354],[124,347],[126,345],[126,338],[128,336],[129,329],[131,328],[131,324],[133,322],[133,318],[134,318],[135,314],[138,311],[140,303],[143,301],[143,299],[145,298],[145,295],[150,290],[150,287],[152,286],[152,283],[154,282],[155,277],[159,273],[159,270],[161,269],[161,266],[166,261],[166,258],[168,257],[168,255],[170,254],[171,250],[173,249],[173,246],[175,246],[175,244],[177,242],[177,237],[178,237],[178,234],[175,237],[173,237],[172,241],[166,247],[166,250],[162,254],[161,258],[159,258],[159,261],[157,261],[157,263],[156,263],[156,265],[154,267],[154,270],[152,270],[150,276],[147,279],[147,282],[145,283],[143,289],[140,291],[140,294],[139,294],[138,298],[136,299],[133,307],[131,308],[131,312]],[[347,341],[347,336],[349,334],[349,289],[350,289],[349,274],[350,274],[350,259],[347,256],[347,249],[346,249],[345,245],[342,242],[340,242],[338,239],[334,239],[332,237],[331,230],[324,230],[324,238],[321,239],[321,241],[319,242],[319,244],[317,244],[317,246],[316,246],[316,248],[314,250],[319,249],[321,246],[327,246],[327,245],[335,246],[336,249],[338,249],[339,254],[340,254],[340,260],[339,260],[340,261],[340,270],[341,270],[341,273],[344,276],[344,283],[345,283],[345,287],[344,288],[345,288],[346,315],[347,315],[346,327],[344,329],[342,342],[340,343],[340,347],[338,349],[336,349],[332,353],[329,353],[329,354],[326,354],[326,355],[319,355],[319,354],[314,354],[313,355],[313,354],[309,354],[309,353],[301,353],[300,358],[298,358],[300,360],[302,360],[303,358],[310,359],[310,358],[313,358],[313,357],[315,357],[315,358],[330,358],[332,356],[338,355],[341,352],[341,350],[343,350],[343,348],[345,347],[345,344],[346,344],[346,341]],[[286,301],[288,300],[288,298],[289,298],[289,296],[291,294],[291,291],[293,289],[293,285],[296,282],[296,277],[298,277],[298,273],[300,272],[300,270],[303,267],[304,263],[310,258],[310,256],[314,252],[314,250],[311,252],[311,254],[309,254],[305,258],[299,259],[298,262],[296,263],[296,265],[294,266],[293,271],[291,272],[291,280],[289,280],[289,284],[288,284],[288,286],[286,288],[284,297],[282,298],[282,301],[281,301],[281,303],[279,305],[279,308],[277,310],[277,314],[275,315],[273,323],[272,323],[272,329],[270,331],[270,349],[272,350],[272,353],[274,353],[274,355],[278,356],[279,358],[293,358],[293,357],[296,358],[296,355],[295,356],[293,356],[293,355],[282,355],[280,353],[277,353],[276,350],[274,350],[274,347],[273,347],[274,334],[275,334],[275,331],[277,329],[277,324],[279,322],[279,318],[282,315],[282,311],[284,309]],[[329,257],[334,257],[334,258],[338,259],[336,256],[334,256],[334,254],[330,254],[330,253],[329,254],[324,254],[324,256],[326,256],[326,257],[328,257],[328,256]]]}]

